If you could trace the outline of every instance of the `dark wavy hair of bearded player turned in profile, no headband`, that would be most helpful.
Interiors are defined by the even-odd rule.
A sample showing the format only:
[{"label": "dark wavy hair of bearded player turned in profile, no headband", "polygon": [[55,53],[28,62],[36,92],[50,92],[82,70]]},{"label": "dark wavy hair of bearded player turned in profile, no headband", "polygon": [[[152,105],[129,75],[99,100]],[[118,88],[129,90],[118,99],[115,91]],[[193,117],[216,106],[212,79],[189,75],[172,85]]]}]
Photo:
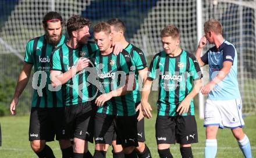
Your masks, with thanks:
[{"label": "dark wavy hair of bearded player turned in profile, no headband", "polygon": [[90,24],[91,22],[88,19],[78,15],[73,15],[69,20],[67,20],[67,34],[69,34],[69,37],[72,37],[72,31],[79,30],[84,26],[90,27]]}]

